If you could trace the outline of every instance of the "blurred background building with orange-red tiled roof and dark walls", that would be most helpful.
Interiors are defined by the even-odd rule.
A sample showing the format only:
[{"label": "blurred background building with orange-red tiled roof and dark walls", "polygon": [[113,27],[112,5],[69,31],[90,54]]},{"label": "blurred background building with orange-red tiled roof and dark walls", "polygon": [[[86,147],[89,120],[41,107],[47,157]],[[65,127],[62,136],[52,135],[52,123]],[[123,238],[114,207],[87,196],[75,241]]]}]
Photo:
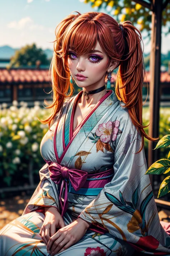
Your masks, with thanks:
[{"label": "blurred background building with orange-red tiled roof and dark walls", "polygon": [[[111,79],[111,89],[113,90],[116,77],[117,73],[113,72]],[[149,90],[150,79],[150,72],[146,71],[146,77],[143,82],[143,102],[146,100],[147,82]],[[170,106],[170,62],[168,71],[161,72],[160,81],[161,106],[167,107]],[[81,88],[75,84],[74,94],[77,94],[80,90]],[[37,66],[11,69],[0,67],[0,104],[5,102],[9,107],[13,100],[17,100],[18,102],[26,101],[28,107],[32,107],[34,101],[37,100],[43,105],[44,99],[46,99],[48,103],[52,101],[49,67]],[[149,91],[144,106],[147,106],[148,103]]]}]

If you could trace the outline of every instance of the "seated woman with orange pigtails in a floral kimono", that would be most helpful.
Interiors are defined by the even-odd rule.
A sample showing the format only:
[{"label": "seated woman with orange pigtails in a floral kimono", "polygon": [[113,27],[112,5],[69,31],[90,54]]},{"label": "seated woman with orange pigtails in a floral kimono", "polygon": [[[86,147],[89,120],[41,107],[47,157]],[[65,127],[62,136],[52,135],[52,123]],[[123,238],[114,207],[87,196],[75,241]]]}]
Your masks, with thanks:
[{"label": "seated woman with orange pigtails in a floral kimono", "polygon": [[[143,139],[156,139],[142,126],[140,41],[131,22],[104,13],[57,26],[53,112],[41,120],[52,122],[40,147],[46,164],[23,215],[1,230],[1,256],[170,255],[145,175]],[[105,77],[109,89],[117,67],[114,93]],[[82,88],[74,97],[72,78]]]}]

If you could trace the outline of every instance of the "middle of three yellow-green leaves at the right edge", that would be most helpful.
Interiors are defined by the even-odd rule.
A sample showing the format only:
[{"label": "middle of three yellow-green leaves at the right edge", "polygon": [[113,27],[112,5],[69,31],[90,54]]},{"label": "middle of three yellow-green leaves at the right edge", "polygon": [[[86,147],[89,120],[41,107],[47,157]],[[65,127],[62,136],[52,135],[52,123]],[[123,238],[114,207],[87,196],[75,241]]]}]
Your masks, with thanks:
[{"label": "middle of three yellow-green leaves at the right edge", "polygon": [[170,160],[160,159],[153,163],[145,174],[162,174],[170,171]]}]

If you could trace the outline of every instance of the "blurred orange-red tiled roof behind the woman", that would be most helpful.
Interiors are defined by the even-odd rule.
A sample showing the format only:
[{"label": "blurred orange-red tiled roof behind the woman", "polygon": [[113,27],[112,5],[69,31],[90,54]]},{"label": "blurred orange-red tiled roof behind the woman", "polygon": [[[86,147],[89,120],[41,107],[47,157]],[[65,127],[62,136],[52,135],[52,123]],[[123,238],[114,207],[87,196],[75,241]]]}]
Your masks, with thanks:
[{"label": "blurred orange-red tiled roof behind the woman", "polygon": [[[48,75],[49,69],[0,69],[0,84],[4,83],[30,83],[30,82],[49,82],[51,76]],[[111,83],[114,83],[117,73],[112,74]],[[146,79],[147,78],[147,79]],[[150,82],[150,72],[146,71],[144,82]],[[170,74],[168,72],[161,72],[161,82],[170,82]]]}]

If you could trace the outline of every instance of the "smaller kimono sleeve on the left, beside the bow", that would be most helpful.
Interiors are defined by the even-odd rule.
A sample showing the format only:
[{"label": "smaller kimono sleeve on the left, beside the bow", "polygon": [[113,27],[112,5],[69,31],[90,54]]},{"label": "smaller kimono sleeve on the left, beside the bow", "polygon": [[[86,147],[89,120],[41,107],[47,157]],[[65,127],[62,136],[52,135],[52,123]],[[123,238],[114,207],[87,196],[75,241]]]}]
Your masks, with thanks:
[{"label": "smaller kimono sleeve on the left, beside the bow", "polygon": [[56,184],[49,177],[48,164],[39,170],[40,182],[30,198],[22,215],[31,211],[44,213],[44,207],[55,207],[59,211]]}]

